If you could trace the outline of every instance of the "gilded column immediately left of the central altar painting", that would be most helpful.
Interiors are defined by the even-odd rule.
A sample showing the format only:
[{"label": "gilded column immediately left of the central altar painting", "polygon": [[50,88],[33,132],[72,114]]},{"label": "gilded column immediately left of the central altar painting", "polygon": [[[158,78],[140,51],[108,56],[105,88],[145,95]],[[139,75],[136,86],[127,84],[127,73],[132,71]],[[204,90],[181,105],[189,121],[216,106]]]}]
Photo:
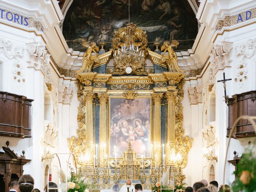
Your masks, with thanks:
[{"label": "gilded column immediately left of the central altar painting", "polygon": [[107,152],[107,108],[108,94],[98,94],[100,102],[100,146],[99,146],[99,165],[104,166],[105,154]]}]

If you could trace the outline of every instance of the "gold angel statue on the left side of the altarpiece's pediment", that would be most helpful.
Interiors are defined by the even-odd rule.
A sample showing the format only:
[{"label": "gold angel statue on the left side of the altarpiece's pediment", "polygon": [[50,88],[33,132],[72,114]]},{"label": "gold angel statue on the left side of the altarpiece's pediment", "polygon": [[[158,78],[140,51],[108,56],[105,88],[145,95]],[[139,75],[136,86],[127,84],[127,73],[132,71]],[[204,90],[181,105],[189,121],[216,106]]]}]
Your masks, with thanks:
[{"label": "gold angel statue on the left side of the altarpiece's pediment", "polygon": [[93,62],[90,62],[90,57],[92,56],[92,52],[98,56],[99,48],[96,46],[96,43],[93,42],[86,42],[84,39],[82,39],[82,46],[86,47],[87,50],[84,52],[83,55],[83,72],[90,72],[92,69]]}]

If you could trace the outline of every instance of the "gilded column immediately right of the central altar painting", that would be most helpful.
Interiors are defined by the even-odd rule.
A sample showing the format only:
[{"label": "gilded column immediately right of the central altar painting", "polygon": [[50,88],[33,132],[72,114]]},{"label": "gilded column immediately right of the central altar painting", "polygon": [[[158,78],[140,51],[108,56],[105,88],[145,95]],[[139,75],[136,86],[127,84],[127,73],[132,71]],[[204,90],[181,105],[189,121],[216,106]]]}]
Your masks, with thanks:
[{"label": "gilded column immediately right of the central altar painting", "polygon": [[153,165],[159,165],[162,162],[161,147],[161,99],[163,93],[154,93],[152,99],[154,101],[154,128],[153,128]]}]

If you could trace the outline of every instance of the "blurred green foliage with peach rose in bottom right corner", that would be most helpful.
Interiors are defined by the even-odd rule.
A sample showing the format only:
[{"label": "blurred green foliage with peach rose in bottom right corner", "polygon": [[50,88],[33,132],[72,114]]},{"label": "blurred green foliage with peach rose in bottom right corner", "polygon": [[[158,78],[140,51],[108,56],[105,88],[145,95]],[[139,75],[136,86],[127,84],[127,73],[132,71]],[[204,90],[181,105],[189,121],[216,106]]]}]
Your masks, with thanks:
[{"label": "blurred green foliage with peach rose in bottom right corner", "polygon": [[256,146],[246,146],[237,164],[236,180],[232,183],[233,192],[256,192]]}]

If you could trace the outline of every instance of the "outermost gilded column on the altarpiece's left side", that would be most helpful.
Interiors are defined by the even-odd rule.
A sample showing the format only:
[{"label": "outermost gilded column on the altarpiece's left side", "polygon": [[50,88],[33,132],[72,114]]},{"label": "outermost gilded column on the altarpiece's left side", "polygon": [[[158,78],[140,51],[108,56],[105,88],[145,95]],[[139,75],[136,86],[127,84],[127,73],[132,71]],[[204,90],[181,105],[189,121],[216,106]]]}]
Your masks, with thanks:
[{"label": "outermost gilded column on the altarpiece's left side", "polygon": [[94,156],[94,144],[93,144],[93,116],[92,116],[92,102],[95,95],[92,91],[84,91],[84,103],[86,104],[85,113],[85,150],[84,155],[87,157],[87,165],[93,165]]}]

